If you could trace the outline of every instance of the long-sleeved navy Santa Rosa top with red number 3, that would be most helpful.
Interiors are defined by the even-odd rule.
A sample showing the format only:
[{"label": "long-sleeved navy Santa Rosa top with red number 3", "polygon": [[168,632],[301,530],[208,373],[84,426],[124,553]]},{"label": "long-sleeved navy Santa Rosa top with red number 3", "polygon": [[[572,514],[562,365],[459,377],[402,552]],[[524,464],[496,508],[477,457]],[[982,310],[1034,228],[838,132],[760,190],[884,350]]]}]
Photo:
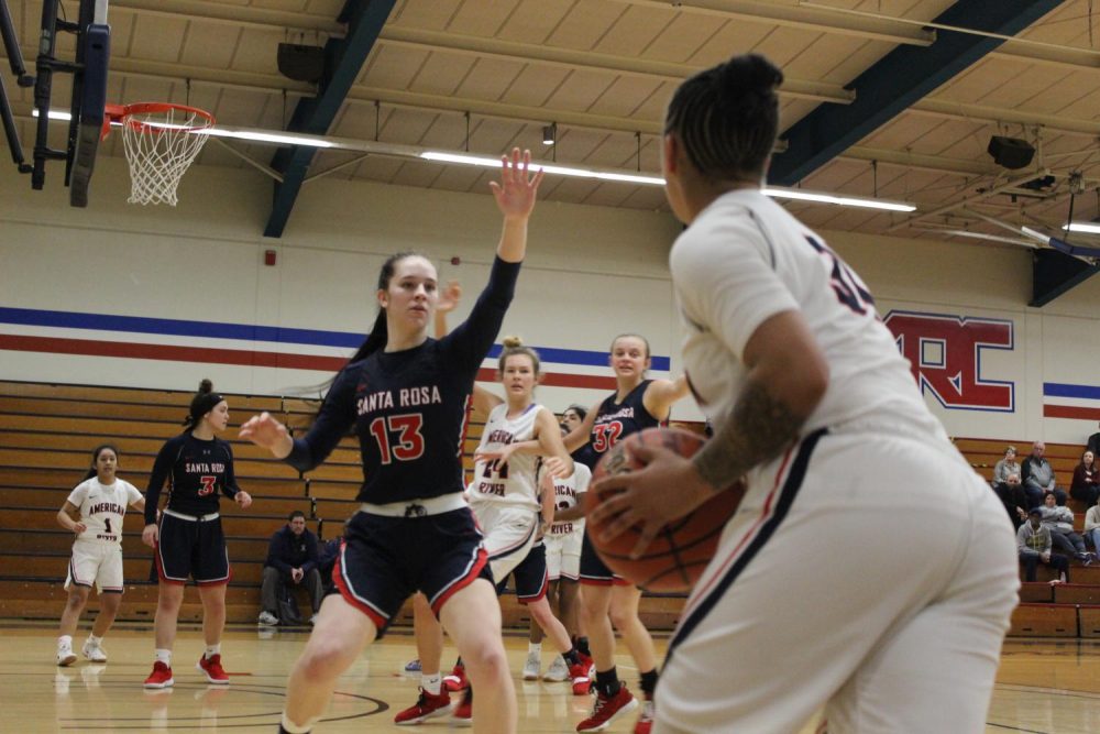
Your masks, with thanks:
[{"label": "long-sleeved navy Santa Rosa top with red number 3", "polygon": [[218,495],[232,499],[240,487],[233,475],[233,450],[220,438],[202,440],[190,431],[169,438],[156,454],[145,491],[145,524],[156,522],[156,505],[168,482],[167,508],[184,515],[218,512]]}]

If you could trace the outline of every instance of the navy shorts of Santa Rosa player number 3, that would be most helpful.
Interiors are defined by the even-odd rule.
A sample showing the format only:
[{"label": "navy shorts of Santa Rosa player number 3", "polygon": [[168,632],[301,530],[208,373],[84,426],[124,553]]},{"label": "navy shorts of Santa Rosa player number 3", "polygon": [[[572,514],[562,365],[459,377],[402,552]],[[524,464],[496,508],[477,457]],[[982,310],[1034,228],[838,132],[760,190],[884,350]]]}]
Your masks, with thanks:
[{"label": "navy shorts of Santa Rosa player number 3", "polygon": [[160,532],[154,562],[162,583],[187,583],[187,577],[199,585],[229,583],[229,551],[218,513],[195,517],[166,510]]}]

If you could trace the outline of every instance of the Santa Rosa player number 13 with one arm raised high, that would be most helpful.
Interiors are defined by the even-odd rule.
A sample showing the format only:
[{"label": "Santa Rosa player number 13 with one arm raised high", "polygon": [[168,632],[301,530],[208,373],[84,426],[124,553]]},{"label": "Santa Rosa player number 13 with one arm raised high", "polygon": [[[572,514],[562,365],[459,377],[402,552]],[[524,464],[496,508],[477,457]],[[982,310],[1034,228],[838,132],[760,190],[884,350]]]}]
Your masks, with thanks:
[{"label": "Santa Rosa player number 13 with one arm raised high", "polygon": [[[302,471],[359,437],[365,480],[332,578],[339,593],[321,606],[287,682],[282,731],[308,732],[324,712],[337,678],[385,632],[415,591],[459,647],[477,686],[474,719],[515,731],[515,689],[501,635],[501,607],[482,536],[462,499],[462,442],[474,377],[504,320],[527,249],[527,221],[542,172],[530,152],[502,158],[491,184],[504,216],[488,285],[464,324],[428,336],[438,300],[435,266],[425,258],[389,258],[378,277],[378,317],[370,337],[333,380],[304,438],[267,414],[241,436]],[[454,602],[454,603],[451,603]]]}]

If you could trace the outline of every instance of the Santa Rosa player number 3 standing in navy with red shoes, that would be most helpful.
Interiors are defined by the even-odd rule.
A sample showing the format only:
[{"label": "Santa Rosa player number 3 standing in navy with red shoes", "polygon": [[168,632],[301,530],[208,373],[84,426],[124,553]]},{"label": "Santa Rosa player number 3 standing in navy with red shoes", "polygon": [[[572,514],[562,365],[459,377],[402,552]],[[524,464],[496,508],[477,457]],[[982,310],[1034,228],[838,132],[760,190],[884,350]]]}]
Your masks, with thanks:
[{"label": "Santa Rosa player number 3 standing in navy with red shoes", "polygon": [[[229,442],[216,437],[228,424],[229,404],[213,392],[209,380],[204,380],[184,421],[187,429],[168,439],[153,463],[142,541],[153,548],[160,585],[153,623],[155,660],[145,688],[167,688],[174,682],[172,645],[188,577],[195,580],[202,600],[206,650],[196,667],[209,682],[229,683],[221,666],[221,635],[230,570],[218,500],[224,494],[246,510],[252,496],[237,485]],[[157,501],[165,481],[168,501],[157,524]]]}]

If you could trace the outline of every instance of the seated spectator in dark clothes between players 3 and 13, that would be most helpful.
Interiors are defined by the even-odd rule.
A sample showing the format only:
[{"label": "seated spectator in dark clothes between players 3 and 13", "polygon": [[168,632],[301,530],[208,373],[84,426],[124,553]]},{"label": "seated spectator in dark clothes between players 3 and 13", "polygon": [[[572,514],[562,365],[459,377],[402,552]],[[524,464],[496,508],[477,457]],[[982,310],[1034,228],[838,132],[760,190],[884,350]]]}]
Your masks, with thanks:
[{"label": "seated spectator in dark clothes between players 3 and 13", "polygon": [[[294,587],[309,591],[314,617],[321,609],[324,593],[321,574],[317,570],[317,536],[306,529],[306,515],[300,510],[290,513],[286,526],[272,536],[264,565],[264,580],[260,588],[263,611],[260,625],[270,627],[279,623],[278,600]],[[287,622],[287,621],[284,621]]]}]

